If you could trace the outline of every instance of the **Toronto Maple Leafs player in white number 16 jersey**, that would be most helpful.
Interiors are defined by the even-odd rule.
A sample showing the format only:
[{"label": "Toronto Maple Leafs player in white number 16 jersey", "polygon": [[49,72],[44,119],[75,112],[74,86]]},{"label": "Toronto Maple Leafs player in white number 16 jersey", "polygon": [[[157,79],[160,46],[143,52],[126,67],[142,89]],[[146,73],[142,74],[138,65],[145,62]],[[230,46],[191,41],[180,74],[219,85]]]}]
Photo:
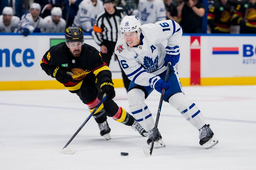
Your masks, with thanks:
[{"label": "Toronto Maple Leafs player in white number 16 jersey", "polygon": [[[161,93],[164,88],[164,101],[199,130],[199,144],[206,149],[217,144],[218,140],[209,125],[205,124],[202,113],[195,103],[186,98],[180,84],[175,67],[180,58],[180,25],[172,20],[162,20],[141,26],[137,16],[125,16],[120,29],[122,36],[116,43],[115,53],[127,77],[132,80],[127,93],[129,108],[136,120],[149,131],[147,143],[151,144],[154,130],[157,130],[154,146],[165,146],[159,130],[154,129],[154,120],[144,102],[154,89]],[[166,47],[162,44],[164,40],[167,40]],[[165,82],[169,62],[171,68],[168,81]]]}]

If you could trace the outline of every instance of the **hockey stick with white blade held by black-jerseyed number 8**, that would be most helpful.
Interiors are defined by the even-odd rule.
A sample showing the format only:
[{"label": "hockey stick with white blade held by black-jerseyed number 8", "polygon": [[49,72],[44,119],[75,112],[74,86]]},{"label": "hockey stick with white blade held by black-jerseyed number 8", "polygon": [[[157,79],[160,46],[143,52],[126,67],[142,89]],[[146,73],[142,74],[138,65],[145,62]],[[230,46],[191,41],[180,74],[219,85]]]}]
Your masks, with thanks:
[{"label": "hockey stick with white blade held by black-jerseyed number 8", "polygon": [[76,133],[69,139],[68,143],[64,146],[62,149],[61,153],[66,153],[66,154],[73,154],[76,152],[75,148],[67,148],[68,144],[76,137],[78,132],[84,127],[85,123],[89,121],[89,119],[92,117],[92,115],[98,110],[100,105],[107,99],[107,94],[105,93],[103,95],[103,99],[100,101],[100,103],[95,107],[95,109],[92,111],[92,113],[87,117],[87,119],[84,121],[84,123],[80,126],[80,128],[76,131]]}]

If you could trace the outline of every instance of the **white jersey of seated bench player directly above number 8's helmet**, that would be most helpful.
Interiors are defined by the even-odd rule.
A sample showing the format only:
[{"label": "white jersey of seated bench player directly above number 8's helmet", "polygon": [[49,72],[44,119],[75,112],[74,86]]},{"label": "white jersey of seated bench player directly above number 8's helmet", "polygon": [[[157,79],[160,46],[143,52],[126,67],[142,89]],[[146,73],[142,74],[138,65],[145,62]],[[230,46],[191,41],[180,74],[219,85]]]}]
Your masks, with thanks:
[{"label": "white jersey of seated bench player directly above number 8's helmet", "polygon": [[60,18],[58,24],[55,24],[52,20],[52,16],[49,15],[44,18],[45,23],[45,33],[63,33],[66,29],[66,21],[63,18]]}]

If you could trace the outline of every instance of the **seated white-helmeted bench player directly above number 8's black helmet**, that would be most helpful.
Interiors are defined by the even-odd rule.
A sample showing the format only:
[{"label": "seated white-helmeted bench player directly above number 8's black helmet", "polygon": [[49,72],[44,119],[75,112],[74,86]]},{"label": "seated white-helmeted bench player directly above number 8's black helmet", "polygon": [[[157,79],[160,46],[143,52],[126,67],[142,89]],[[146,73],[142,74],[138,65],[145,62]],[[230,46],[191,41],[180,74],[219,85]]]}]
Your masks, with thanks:
[{"label": "seated white-helmeted bench player directly above number 8's black helmet", "polygon": [[45,33],[63,33],[66,29],[66,21],[61,18],[62,10],[60,7],[53,7],[51,15],[44,18]]}]

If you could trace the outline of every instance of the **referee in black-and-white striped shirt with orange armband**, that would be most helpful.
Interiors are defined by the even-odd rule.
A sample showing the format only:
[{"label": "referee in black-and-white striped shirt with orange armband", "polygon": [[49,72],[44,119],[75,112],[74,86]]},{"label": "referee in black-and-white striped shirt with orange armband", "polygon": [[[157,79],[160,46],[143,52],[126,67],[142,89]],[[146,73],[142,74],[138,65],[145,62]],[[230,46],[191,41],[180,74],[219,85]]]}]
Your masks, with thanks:
[{"label": "referee in black-and-white striped shirt with orange armband", "polygon": [[[105,11],[102,11],[97,16],[92,36],[100,46],[102,61],[109,66],[111,56],[115,50],[116,41],[119,38],[120,22],[126,13],[123,8],[115,7],[114,0],[103,0],[103,4]],[[126,91],[128,91],[130,80],[127,78],[122,68],[121,71],[124,87]]]}]

